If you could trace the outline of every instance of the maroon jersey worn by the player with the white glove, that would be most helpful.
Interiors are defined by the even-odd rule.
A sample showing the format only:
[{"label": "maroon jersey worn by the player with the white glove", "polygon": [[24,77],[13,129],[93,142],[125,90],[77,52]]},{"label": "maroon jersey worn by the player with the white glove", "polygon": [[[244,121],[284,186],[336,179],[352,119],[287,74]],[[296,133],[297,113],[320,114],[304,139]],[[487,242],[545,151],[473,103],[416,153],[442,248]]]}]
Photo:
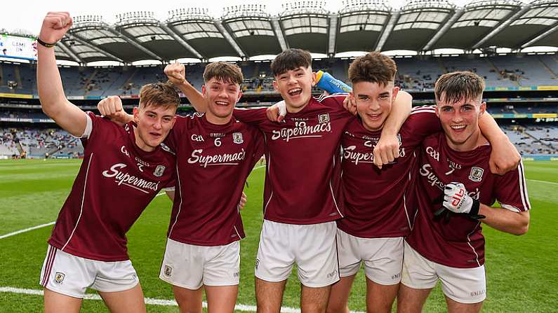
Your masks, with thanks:
[{"label": "maroon jersey worn by the player with the white glove", "polygon": [[469,195],[491,206],[495,200],[511,211],[531,208],[527,195],[523,163],[503,176],[489,167],[491,146],[473,151],[454,151],[444,132],[427,137],[420,147],[415,185],[418,211],[407,237],[413,249],[425,258],[451,267],[479,267],[484,264],[484,236],[481,222],[465,214],[450,214],[449,221],[435,218],[441,208],[440,195],[446,183],[463,183]]}]

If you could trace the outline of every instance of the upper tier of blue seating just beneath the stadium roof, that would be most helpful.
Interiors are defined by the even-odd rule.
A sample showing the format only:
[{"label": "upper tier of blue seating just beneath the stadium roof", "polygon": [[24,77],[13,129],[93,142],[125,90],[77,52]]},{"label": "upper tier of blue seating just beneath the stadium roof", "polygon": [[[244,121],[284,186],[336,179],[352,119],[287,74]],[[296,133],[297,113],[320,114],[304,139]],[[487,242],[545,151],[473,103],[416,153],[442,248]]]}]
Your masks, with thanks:
[{"label": "upper tier of blue seating just beneath the stadium roof", "polygon": [[[314,69],[328,71],[348,83],[347,69],[351,60],[316,60]],[[536,87],[558,85],[558,61],[555,55],[510,55],[497,57],[401,57],[396,58],[397,84],[411,91],[434,88],[441,74],[449,71],[474,71],[486,79],[488,88]],[[244,74],[245,91],[272,91],[270,62],[237,62]],[[201,88],[204,63],[188,64],[186,78]],[[31,64],[1,63],[3,79],[0,92],[36,95],[35,68]],[[145,67],[60,67],[68,96],[107,97],[138,95],[145,83],[166,81],[164,66]],[[15,88],[10,84],[15,83]]]}]

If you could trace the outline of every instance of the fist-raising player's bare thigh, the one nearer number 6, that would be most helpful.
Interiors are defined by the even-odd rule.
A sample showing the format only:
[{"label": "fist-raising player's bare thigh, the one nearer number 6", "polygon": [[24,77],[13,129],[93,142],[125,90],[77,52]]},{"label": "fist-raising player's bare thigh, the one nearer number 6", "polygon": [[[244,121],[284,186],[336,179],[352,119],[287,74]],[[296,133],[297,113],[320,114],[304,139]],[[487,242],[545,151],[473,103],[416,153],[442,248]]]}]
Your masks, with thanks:
[{"label": "fist-raising player's bare thigh, the one nearer number 6", "polygon": [[145,312],[145,300],[139,283],[125,291],[99,291],[99,294],[112,313]]}]

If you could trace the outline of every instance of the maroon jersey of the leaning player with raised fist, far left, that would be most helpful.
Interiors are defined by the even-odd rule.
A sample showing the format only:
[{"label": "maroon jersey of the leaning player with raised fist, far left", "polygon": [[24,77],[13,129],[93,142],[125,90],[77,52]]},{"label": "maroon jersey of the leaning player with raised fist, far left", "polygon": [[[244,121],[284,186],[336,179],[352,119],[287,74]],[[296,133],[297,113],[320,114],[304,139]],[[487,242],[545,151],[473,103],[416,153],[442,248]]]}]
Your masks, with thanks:
[{"label": "maroon jersey of the leaning player with raised fist, far left", "polygon": [[125,234],[159,190],[174,185],[175,158],[160,146],[138,148],[133,123],[88,118],[84,160],[48,243],[81,258],[128,260]]}]

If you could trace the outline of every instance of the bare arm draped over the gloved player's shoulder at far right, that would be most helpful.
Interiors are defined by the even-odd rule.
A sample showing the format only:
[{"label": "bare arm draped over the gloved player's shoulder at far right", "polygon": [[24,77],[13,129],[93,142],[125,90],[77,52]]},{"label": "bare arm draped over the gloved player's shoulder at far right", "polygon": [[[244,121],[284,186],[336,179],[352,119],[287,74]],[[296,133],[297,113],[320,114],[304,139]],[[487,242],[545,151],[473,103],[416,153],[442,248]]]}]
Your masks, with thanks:
[{"label": "bare arm draped over the gloved player's shoulder at far right", "polygon": [[489,161],[490,172],[503,175],[516,169],[522,157],[488,112],[484,112],[479,119],[479,127],[492,146]]}]

